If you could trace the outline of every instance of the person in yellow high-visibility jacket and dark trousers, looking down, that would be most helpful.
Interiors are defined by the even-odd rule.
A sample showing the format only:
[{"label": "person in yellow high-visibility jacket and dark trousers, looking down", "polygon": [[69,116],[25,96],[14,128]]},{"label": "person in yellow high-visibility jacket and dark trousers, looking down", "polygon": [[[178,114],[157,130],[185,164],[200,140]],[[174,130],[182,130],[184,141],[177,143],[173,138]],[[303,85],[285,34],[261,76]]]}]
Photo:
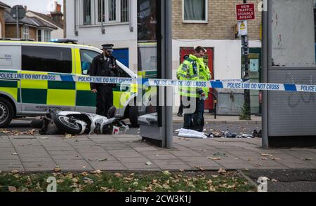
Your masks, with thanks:
[{"label": "person in yellow high-visibility jacket and dark trousers, looking down", "polygon": [[[177,77],[183,81],[199,81],[199,71],[204,71],[206,66],[203,57],[205,49],[201,46],[195,48],[195,54],[190,55],[177,70]],[[207,74],[207,69],[205,71]],[[204,76],[204,74],[202,75]],[[201,77],[202,78],[202,77]],[[180,86],[180,95],[183,100],[184,123],[183,128],[203,131],[204,100],[208,93],[206,88]]]}]

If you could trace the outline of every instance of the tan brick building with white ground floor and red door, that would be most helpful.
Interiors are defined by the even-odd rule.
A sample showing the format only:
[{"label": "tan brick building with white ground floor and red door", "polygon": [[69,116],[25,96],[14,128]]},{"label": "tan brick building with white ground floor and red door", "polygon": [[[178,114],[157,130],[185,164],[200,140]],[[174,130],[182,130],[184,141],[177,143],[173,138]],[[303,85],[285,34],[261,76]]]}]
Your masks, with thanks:
[{"label": "tan brick building with white ground floor and red door", "polygon": [[[255,8],[259,0],[251,0]],[[208,50],[208,63],[214,79],[242,78],[242,42],[236,36],[236,4],[242,0],[172,0],[173,16],[173,74],[183,56],[192,53],[195,46]],[[248,21],[249,64],[251,81],[261,81],[261,12],[256,20]],[[251,112],[258,114],[258,91],[251,91]],[[228,102],[226,102],[228,103]],[[242,102],[241,102],[242,103]],[[212,104],[212,102],[208,102]],[[235,104],[235,103],[234,103]],[[230,107],[231,105],[227,105]],[[211,105],[209,106],[211,108]],[[234,113],[234,111],[231,111]],[[231,113],[231,114],[232,114]]]}]

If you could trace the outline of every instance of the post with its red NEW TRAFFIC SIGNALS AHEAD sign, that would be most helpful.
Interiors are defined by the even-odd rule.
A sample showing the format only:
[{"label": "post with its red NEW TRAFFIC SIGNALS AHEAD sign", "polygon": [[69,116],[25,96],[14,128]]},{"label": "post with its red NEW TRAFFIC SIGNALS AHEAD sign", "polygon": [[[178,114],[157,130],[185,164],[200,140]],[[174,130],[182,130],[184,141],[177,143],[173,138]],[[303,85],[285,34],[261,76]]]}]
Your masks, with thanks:
[{"label": "post with its red NEW TRAFFIC SIGNALS AHEAD sign", "polygon": [[[255,20],[255,5],[246,4],[247,1],[244,0],[244,4],[236,5],[236,20],[238,21],[238,33],[242,36],[242,55],[244,56],[244,81],[249,81],[249,43],[248,43],[248,27],[247,20]],[[250,90],[244,90],[244,118],[246,120],[251,119],[250,111]]]}]

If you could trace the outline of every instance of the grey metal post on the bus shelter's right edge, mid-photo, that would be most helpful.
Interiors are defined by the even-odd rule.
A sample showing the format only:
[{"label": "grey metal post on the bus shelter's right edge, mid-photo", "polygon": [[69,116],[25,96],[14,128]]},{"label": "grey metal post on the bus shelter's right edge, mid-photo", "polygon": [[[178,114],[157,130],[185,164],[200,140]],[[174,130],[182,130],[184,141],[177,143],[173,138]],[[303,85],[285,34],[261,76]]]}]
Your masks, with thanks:
[{"label": "grey metal post on the bus shelter's right edge, mid-photo", "polygon": [[[170,0],[165,0],[165,48],[166,48],[166,67],[165,74],[167,79],[172,79],[172,2]],[[166,97],[172,98],[172,89],[166,88]],[[165,99],[166,103],[168,103],[167,99]],[[173,123],[172,123],[172,106],[168,106],[165,104],[165,117],[166,117],[166,147],[168,149],[173,149]]]}]

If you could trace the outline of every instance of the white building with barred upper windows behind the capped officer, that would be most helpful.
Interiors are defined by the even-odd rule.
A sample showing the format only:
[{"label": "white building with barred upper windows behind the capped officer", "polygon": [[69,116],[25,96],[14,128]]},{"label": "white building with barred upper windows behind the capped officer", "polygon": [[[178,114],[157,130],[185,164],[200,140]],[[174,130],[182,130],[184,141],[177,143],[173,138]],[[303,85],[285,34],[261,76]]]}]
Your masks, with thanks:
[{"label": "white building with barred upper windows behind the capped officer", "polygon": [[137,2],[134,0],[64,1],[67,39],[101,48],[113,43],[126,66],[137,71]]}]

